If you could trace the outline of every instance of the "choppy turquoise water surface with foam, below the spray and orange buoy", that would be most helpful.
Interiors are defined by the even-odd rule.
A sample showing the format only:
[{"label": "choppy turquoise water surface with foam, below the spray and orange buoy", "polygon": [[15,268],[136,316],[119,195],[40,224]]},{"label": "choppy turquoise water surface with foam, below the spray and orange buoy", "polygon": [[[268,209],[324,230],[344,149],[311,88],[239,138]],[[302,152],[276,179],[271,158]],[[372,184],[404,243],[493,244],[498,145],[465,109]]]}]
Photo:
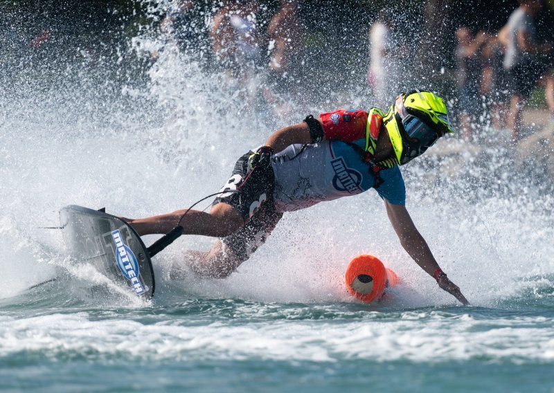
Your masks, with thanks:
[{"label": "choppy turquoise water surface with foam, below the spray and orange buoy", "polygon": [[552,389],[549,289],[495,308],[405,309],[391,298],[368,308],[198,298],[166,287],[161,300],[129,308],[91,307],[66,295],[67,284],[1,302],[5,388]]}]

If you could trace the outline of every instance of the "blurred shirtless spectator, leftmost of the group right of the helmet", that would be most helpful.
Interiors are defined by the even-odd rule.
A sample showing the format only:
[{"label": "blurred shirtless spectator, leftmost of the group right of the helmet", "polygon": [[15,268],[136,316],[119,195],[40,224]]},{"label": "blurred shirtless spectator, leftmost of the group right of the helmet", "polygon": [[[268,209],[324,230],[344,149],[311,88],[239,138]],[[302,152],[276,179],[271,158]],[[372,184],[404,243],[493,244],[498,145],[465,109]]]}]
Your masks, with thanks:
[{"label": "blurred shirtless spectator, leftmost of the group right of the helmet", "polygon": [[481,46],[487,35],[479,32],[473,37],[467,27],[456,30],[456,65],[458,70],[458,98],[460,103],[460,125],[464,138],[472,137],[479,115],[483,112],[483,99],[479,91],[483,62]]}]

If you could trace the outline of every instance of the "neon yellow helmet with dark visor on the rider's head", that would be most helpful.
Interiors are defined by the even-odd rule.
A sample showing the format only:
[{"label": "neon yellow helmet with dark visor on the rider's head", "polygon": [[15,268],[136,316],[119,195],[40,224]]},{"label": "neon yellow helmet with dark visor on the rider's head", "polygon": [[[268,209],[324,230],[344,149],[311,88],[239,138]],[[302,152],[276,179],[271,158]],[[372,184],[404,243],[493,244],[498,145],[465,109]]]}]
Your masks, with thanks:
[{"label": "neon yellow helmet with dark visor on the rider's head", "polygon": [[383,121],[400,165],[423,154],[441,136],[454,133],[445,102],[431,91],[398,95]]}]

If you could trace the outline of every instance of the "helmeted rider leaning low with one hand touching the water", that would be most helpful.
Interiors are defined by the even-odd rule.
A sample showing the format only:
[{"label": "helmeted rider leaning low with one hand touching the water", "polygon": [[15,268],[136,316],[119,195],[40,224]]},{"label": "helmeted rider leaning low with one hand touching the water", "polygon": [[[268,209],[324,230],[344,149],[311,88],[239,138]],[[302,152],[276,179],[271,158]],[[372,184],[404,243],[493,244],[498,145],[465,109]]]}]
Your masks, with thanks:
[{"label": "helmeted rider leaning low with one hand touching the water", "polygon": [[406,252],[440,288],[467,304],[415,228],[399,169],[453,132],[442,98],[423,90],[398,95],[386,113],[372,108],[307,116],[239,158],[209,213],[178,210],[127,221],[139,235],[180,226],[188,235],[222,238],[208,252],[190,255],[195,273],[223,278],[265,242],[284,212],[375,188]]}]

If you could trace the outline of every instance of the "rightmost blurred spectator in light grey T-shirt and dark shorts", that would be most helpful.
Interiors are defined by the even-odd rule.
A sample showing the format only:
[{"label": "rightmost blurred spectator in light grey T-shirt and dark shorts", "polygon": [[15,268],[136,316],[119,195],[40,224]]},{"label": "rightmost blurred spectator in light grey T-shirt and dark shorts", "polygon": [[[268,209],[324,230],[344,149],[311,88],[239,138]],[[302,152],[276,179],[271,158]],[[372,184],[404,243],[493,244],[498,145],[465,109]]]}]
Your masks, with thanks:
[{"label": "rightmost blurred spectator in light grey T-shirt and dark shorts", "polygon": [[554,111],[554,80],[548,63],[539,55],[552,53],[553,44],[537,43],[535,17],[544,6],[542,0],[522,0],[520,6],[508,19],[508,24],[499,33],[500,41],[506,46],[504,69],[512,98],[508,126],[512,129],[512,140],[521,138],[521,111],[526,100],[535,89],[540,77],[546,77],[546,102]]}]

